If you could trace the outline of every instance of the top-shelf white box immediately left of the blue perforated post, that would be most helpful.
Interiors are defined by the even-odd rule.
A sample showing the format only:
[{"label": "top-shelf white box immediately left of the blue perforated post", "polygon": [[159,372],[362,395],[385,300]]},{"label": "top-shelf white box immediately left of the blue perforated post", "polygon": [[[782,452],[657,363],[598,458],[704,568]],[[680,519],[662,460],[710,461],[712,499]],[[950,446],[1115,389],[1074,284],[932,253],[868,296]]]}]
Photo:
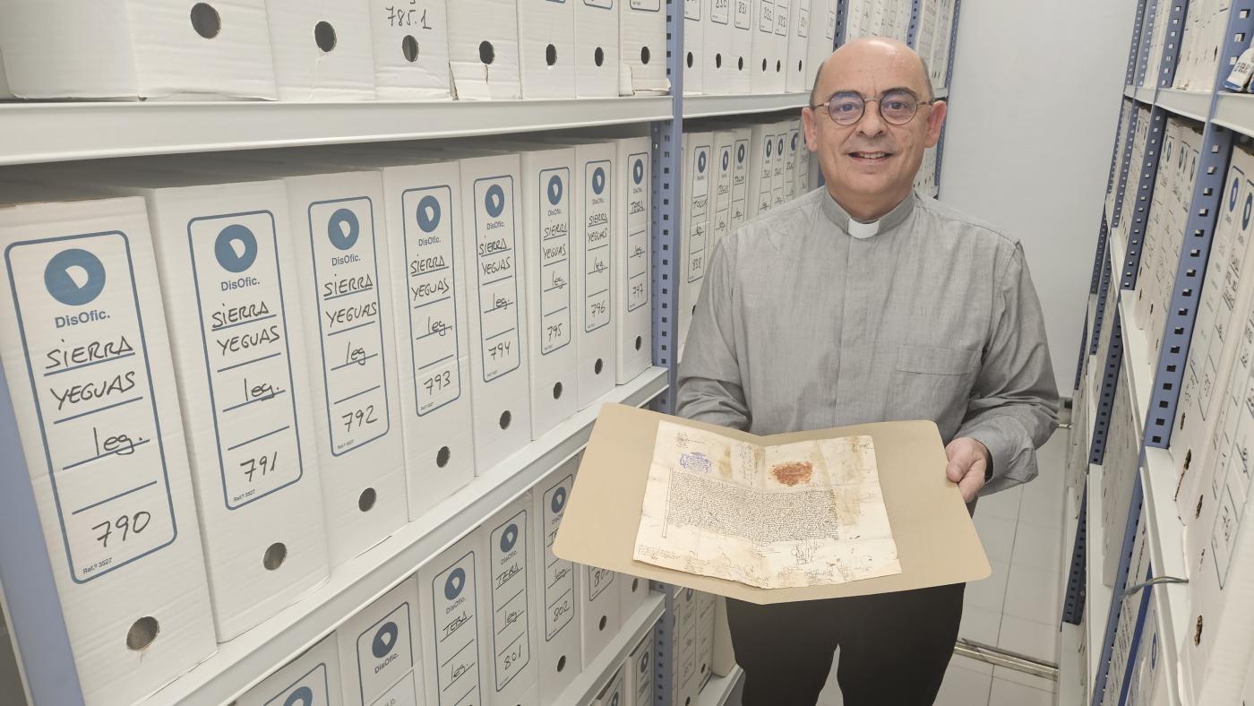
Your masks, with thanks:
[{"label": "top-shelf white box immediately left of the blue perforated post", "polygon": [[670,90],[665,4],[665,0],[618,0],[619,94],[657,95]]}]

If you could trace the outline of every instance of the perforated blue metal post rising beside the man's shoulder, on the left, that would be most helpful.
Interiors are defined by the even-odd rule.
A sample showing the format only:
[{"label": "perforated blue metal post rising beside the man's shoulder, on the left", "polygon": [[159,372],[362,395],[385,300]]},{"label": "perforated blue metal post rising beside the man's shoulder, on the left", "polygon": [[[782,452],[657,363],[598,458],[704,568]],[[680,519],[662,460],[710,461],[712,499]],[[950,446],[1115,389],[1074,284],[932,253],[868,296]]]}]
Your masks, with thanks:
[{"label": "perforated blue metal post rising beside the man's shoulder, on the left", "polygon": [[652,409],[671,414],[678,385],[680,341],[675,313],[680,298],[680,171],[683,163],[683,4],[666,1],[666,75],[671,79],[671,119],[651,125],[652,155],[652,315],[653,365],[666,367],[666,390]]}]

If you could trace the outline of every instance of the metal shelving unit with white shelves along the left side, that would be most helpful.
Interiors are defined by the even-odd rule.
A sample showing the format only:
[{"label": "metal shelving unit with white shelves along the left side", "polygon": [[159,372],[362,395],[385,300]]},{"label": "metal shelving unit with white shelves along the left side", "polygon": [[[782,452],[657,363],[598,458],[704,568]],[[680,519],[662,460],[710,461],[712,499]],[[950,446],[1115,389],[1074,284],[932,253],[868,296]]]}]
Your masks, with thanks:
[{"label": "metal shelving unit with white shelves along the left side", "polygon": [[[836,44],[844,40],[839,3]],[[961,0],[956,0],[949,35],[946,87],[948,98]],[[680,173],[685,118],[798,110],[808,94],[683,97],[680,58],[683,21],[678,0],[667,0],[667,74],[672,94],[663,97],[433,103],[268,103],[268,102],[63,102],[0,103],[0,166],[139,157],[236,149],[475,137],[593,125],[648,123],[652,150],[652,319],[655,366],[598,404],[581,411],[527,449],[441,502],[364,554],[337,567],[330,581],[218,652],[143,703],[221,706],[334,631],[362,606],[386,593],[414,568],[436,556],[479,523],[569,459],[587,443],[601,403],[673,408],[678,262],[681,251]],[[919,3],[913,4],[914,19]],[[912,20],[913,24],[913,20]],[[943,144],[942,144],[943,147]],[[937,169],[939,176],[940,154]],[[18,449],[16,419],[9,387],[0,374],[0,448]],[[43,545],[43,530],[21,454],[0,459],[0,584],[11,622],[8,626],[28,656],[25,683],[36,703],[83,706],[66,628],[49,559],[30,547]],[[611,646],[588,665],[561,703],[582,705],[650,631],[660,647],[666,599],[655,594],[623,623]],[[670,655],[658,650],[657,703],[670,700]],[[722,706],[741,681],[739,667],[715,677],[700,703]]]}]

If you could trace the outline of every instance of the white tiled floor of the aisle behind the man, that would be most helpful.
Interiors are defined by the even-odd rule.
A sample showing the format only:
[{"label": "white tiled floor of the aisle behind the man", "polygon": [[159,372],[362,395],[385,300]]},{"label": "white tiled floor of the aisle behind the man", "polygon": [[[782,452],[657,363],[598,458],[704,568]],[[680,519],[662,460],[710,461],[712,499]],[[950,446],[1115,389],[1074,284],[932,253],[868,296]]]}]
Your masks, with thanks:
[{"label": "white tiled floor of the aisle behind the man", "polygon": [[[1036,480],[981,498],[979,532],[993,574],[967,586],[962,628],[967,640],[1057,661],[1062,599],[1063,468],[1067,431],[1060,430],[1037,451]],[[838,655],[839,658],[839,655]],[[1052,706],[1055,685],[1014,670],[954,657],[937,706]],[[819,706],[843,706],[835,670]]]}]

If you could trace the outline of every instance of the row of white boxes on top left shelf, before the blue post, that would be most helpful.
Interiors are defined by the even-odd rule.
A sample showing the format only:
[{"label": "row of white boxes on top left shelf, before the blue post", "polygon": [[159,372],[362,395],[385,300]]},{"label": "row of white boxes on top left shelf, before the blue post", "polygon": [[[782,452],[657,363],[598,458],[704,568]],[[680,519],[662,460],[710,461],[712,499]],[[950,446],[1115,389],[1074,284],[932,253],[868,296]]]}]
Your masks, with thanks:
[{"label": "row of white boxes on top left shelf, before the blue post", "polygon": [[663,0],[6,1],[0,53],[20,98],[658,94],[670,88],[665,9]]}]

